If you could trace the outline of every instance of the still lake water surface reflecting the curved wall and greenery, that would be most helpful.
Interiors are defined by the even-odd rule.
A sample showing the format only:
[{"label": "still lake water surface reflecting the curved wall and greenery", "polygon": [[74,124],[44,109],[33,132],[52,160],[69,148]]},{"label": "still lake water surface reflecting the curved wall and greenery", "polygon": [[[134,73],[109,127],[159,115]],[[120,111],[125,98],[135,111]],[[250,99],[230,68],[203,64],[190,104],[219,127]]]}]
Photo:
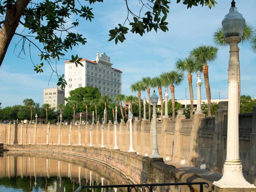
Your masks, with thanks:
[{"label": "still lake water surface reflecting the curved wall and greenery", "polygon": [[12,151],[0,153],[0,191],[69,192],[79,186],[101,184],[120,185],[128,184],[128,181],[102,164],[74,156]]}]

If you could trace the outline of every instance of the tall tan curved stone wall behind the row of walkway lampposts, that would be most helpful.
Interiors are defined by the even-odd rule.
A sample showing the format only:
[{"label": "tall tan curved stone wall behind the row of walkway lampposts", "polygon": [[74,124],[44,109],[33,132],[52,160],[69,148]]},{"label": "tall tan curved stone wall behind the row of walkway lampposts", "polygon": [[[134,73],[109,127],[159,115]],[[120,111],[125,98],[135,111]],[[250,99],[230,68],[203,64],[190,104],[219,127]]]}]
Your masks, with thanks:
[{"label": "tall tan curved stone wall behind the row of walkway lampposts", "polygon": [[[160,155],[164,160],[178,163],[182,161],[190,166],[200,167],[201,164],[205,164],[206,169],[215,173],[222,173],[226,159],[227,113],[226,108],[220,108],[215,117],[195,114],[192,119],[177,116],[175,121],[166,118],[162,122],[157,122],[157,141]],[[134,150],[139,155],[150,156],[153,138],[152,122],[134,121],[132,125]],[[31,145],[46,145],[48,133],[49,146],[54,146],[58,145],[58,133],[60,132],[60,145],[68,146],[68,132],[70,132],[72,147],[79,145],[78,133],[81,130],[81,145],[88,147],[90,145],[90,128],[92,128],[92,145],[94,148],[100,148],[100,126],[100,124],[0,124],[1,142],[28,145],[30,138]],[[129,133],[129,122],[126,124],[121,122],[117,125],[117,146],[120,151],[129,150]],[[104,125],[103,140],[106,149],[114,148],[115,137],[112,123]],[[253,113],[239,115],[239,141],[239,156],[243,165],[244,177],[250,183],[255,184],[256,107],[253,108]],[[121,156],[119,157],[121,158]],[[122,162],[120,162],[120,166],[121,164]]]}]

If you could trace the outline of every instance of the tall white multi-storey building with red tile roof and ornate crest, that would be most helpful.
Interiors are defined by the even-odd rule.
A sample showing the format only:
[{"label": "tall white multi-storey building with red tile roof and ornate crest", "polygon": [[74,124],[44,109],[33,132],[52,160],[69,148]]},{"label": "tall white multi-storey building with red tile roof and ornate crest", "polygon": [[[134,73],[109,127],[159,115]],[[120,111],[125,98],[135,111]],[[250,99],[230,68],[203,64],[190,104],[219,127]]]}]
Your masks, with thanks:
[{"label": "tall white multi-storey building with red tile roof and ornate crest", "polygon": [[69,92],[78,87],[97,87],[101,95],[108,95],[113,99],[122,92],[122,71],[112,68],[110,57],[106,53],[97,52],[96,60],[82,59],[83,66],[75,63],[65,62],[65,97]]}]

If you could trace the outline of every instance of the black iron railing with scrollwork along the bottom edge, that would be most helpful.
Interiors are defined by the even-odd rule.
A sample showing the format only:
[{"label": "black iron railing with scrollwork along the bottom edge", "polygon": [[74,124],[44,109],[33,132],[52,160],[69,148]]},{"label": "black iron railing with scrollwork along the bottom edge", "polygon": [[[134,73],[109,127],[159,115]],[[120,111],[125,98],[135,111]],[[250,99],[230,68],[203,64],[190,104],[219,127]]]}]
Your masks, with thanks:
[{"label": "black iron railing with scrollwork along the bottom edge", "polygon": [[98,185],[98,186],[80,186],[76,189],[75,192],[81,192],[83,189],[86,188],[127,188],[127,192],[132,191],[147,191],[153,192],[153,187],[156,186],[181,186],[181,185],[199,185],[200,192],[203,192],[204,186],[206,188],[209,187],[208,183],[206,182],[193,182],[193,183],[154,183],[154,184],[136,184],[136,185]]}]

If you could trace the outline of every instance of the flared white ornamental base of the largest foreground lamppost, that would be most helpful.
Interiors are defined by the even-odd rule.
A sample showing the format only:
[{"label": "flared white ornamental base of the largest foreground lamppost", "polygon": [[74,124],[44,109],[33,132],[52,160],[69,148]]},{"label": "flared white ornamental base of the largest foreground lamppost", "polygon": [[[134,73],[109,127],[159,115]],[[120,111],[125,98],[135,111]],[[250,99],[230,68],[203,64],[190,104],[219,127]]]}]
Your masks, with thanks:
[{"label": "flared white ornamental base of the largest foreground lamppost", "polygon": [[241,162],[225,162],[223,176],[212,183],[219,188],[255,188],[244,179]]}]

